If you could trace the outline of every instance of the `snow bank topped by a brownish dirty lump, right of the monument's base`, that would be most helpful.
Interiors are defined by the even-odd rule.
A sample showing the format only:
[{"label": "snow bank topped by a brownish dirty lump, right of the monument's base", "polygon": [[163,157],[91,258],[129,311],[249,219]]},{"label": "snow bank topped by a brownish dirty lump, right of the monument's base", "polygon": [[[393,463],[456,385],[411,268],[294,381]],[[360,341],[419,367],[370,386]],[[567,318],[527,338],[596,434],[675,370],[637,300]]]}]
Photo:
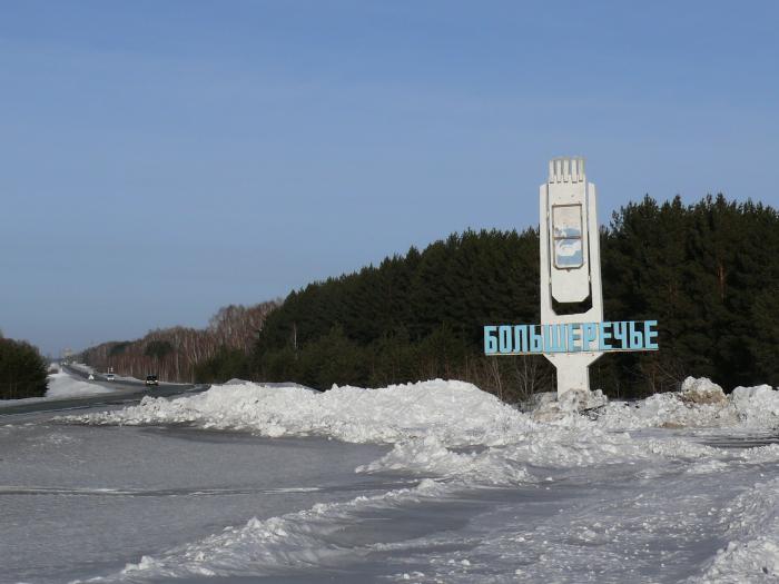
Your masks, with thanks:
[{"label": "snow bank topped by a brownish dirty lump, right of the monument's base", "polygon": [[655,394],[635,403],[611,402],[600,413],[598,422],[612,429],[772,429],[779,426],[779,392],[761,385],[737,387],[726,396],[722,388],[709,379],[688,377],[681,392]]}]

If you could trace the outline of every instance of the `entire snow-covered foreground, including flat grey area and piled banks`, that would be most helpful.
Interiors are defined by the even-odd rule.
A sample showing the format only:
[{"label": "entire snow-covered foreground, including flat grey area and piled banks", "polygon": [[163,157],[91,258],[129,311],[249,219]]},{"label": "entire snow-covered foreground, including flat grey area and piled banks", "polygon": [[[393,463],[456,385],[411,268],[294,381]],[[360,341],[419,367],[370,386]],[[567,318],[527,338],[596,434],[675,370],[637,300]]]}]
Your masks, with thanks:
[{"label": "entire snow-covered foreground, including flat grey area and piled banks", "polygon": [[0,580],[779,580],[779,392],[572,405],[231,384],[7,425]]}]

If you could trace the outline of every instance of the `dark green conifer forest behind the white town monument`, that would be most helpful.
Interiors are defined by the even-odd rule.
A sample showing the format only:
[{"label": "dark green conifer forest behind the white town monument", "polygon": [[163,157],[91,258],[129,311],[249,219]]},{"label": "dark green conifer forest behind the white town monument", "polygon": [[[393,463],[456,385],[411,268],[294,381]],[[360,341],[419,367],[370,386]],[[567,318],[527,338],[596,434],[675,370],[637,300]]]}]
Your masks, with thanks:
[{"label": "dark green conifer forest behind the white town monument", "polygon": [[[600,239],[605,318],[658,320],[660,350],[601,357],[590,368],[593,388],[638,397],[672,390],[688,375],[726,388],[779,384],[773,208],[722,195],[692,205],[647,196],[613,212]],[[293,290],[241,324],[243,344],[214,337],[207,352],[187,356],[186,370],[201,382],[323,389],[457,378],[522,399],[553,390],[554,369],[541,356],[485,357],[482,331],[539,323],[539,305],[538,229],[467,230]],[[191,329],[136,342],[140,373],[162,363],[179,372],[171,362],[183,346],[171,340],[177,330]],[[115,366],[124,350],[108,347]]]}]

